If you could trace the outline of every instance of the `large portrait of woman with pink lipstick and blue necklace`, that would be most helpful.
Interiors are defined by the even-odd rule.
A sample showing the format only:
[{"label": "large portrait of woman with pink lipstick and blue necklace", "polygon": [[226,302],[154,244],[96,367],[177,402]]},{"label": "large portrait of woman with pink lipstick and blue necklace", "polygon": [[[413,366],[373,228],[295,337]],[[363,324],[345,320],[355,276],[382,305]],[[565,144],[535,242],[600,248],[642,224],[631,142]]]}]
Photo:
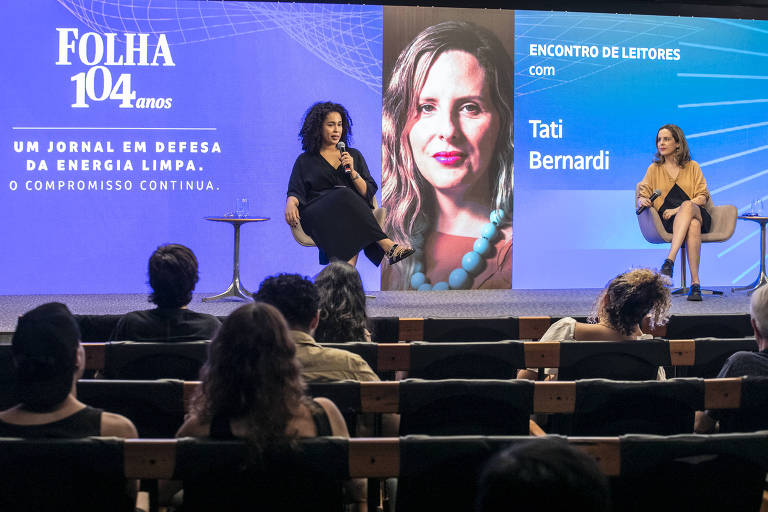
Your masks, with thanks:
[{"label": "large portrait of woman with pink lipstick and blue necklace", "polygon": [[[511,30],[511,28],[510,28]],[[383,102],[386,231],[416,253],[384,290],[510,288],[513,63],[489,29],[446,21],[400,52]]]}]

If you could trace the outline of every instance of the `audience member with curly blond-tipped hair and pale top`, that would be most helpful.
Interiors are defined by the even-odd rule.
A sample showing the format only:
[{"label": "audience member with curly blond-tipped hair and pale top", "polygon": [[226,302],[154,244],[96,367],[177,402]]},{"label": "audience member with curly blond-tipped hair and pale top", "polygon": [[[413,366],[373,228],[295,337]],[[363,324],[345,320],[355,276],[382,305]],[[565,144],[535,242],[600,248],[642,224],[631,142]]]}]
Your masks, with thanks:
[{"label": "audience member with curly blond-tipped hair and pale top", "polygon": [[[641,325],[650,329],[663,325],[671,306],[669,278],[647,268],[629,270],[614,277],[600,293],[589,323],[571,317],[552,324],[539,341],[625,341],[652,339]],[[547,368],[547,379],[557,379],[557,368]],[[537,378],[536,369],[520,370],[519,379]],[[657,378],[665,378],[659,367]]]}]

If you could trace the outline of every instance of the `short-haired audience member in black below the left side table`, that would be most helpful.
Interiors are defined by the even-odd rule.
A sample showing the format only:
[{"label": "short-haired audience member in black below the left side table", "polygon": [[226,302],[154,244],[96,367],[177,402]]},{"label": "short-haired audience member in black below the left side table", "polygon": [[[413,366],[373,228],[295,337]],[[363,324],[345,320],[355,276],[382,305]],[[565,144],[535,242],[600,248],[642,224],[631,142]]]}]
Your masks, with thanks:
[{"label": "short-haired audience member in black below the left side table", "polygon": [[155,309],[124,315],[110,336],[112,340],[209,340],[221,325],[213,315],[187,309],[198,281],[197,258],[181,244],[161,245],[149,258],[149,300]]}]

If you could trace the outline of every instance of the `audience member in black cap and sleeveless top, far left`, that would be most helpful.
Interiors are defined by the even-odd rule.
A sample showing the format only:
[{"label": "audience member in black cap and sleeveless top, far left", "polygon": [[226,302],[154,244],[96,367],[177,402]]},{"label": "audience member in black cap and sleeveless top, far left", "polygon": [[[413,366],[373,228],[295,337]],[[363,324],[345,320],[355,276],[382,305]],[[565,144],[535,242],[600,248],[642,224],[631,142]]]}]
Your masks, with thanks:
[{"label": "audience member in black cap and sleeveless top, far left", "polygon": [[11,352],[18,404],[0,412],[0,437],[138,437],[129,419],[77,399],[85,351],[67,306],[51,302],[21,316]]}]

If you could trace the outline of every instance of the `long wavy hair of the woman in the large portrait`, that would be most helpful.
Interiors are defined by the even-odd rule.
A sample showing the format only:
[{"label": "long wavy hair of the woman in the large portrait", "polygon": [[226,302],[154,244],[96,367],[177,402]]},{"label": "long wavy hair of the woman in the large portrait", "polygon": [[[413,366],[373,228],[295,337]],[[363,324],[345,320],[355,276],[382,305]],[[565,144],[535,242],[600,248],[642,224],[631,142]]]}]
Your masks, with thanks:
[{"label": "long wavy hair of the woman in the large portrait", "polygon": [[514,66],[501,41],[489,30],[469,22],[447,21],[424,29],[400,53],[384,92],[382,112],[382,205],[387,208],[385,231],[398,243],[410,244],[416,257],[401,263],[408,289],[414,265],[423,259],[427,234],[436,215],[435,192],[421,175],[409,142],[418,99],[429,69],[449,50],[473,55],[483,70],[499,113],[496,158],[488,172],[489,213],[502,209],[504,225],[512,219],[513,188],[513,78]]}]

